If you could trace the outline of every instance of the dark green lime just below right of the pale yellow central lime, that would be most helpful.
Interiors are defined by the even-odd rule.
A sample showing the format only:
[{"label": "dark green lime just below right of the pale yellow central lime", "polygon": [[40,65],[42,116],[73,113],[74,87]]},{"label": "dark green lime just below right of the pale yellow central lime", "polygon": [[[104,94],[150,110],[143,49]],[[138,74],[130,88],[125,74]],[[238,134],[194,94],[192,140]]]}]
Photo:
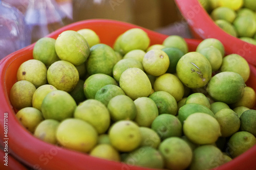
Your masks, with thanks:
[{"label": "dark green lime just below right of the pale yellow central lime", "polygon": [[152,99],[158,109],[159,114],[167,113],[176,115],[178,111],[177,102],[174,96],[170,95],[166,91],[156,91],[150,94],[148,98]]}]

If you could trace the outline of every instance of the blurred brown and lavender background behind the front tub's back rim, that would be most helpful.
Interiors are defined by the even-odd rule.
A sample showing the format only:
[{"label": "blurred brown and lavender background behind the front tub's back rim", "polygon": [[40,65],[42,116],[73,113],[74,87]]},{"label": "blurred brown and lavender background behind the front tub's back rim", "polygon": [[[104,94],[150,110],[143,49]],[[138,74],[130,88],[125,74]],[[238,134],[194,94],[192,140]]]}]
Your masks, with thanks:
[{"label": "blurred brown and lavender background behind the front tub's back rim", "polygon": [[[13,11],[18,17],[10,17],[4,14],[4,10],[0,12],[0,25],[7,25],[5,31],[3,31],[5,27],[0,28],[2,29],[2,33],[0,33],[2,56],[0,59],[69,23],[84,19],[114,19],[133,23],[166,35],[191,38],[186,21],[173,0],[2,0],[1,4],[2,8],[9,8],[9,12],[6,12],[9,13],[8,15],[10,15],[10,11]],[[15,19],[18,20],[18,23],[14,21]],[[22,21],[25,23],[20,23]],[[17,26],[13,27],[15,24]],[[23,27],[24,24],[29,29]],[[20,30],[22,28],[23,30]],[[8,49],[9,51],[4,54],[5,46],[10,46],[10,43],[13,42],[3,37],[13,32],[22,34],[12,35],[15,37],[12,41],[19,41],[18,44],[22,45]],[[22,36],[27,39],[24,37],[20,39],[19,37]]]}]

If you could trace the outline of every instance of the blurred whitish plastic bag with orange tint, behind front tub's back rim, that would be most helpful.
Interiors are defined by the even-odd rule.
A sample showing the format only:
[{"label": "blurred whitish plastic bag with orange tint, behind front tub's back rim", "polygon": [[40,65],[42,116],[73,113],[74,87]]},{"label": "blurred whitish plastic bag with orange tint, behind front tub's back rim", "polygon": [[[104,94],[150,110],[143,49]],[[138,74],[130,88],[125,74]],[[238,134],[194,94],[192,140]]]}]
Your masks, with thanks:
[{"label": "blurred whitish plastic bag with orange tint, behind front tub's back rim", "polygon": [[54,0],[30,1],[25,20],[31,28],[32,43],[72,22]]}]

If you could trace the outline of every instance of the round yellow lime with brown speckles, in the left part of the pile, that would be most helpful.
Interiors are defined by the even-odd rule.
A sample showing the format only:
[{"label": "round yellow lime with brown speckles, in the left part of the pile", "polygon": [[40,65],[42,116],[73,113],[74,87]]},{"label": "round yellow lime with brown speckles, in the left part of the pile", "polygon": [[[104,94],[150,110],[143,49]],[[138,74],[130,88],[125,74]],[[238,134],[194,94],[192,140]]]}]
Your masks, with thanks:
[{"label": "round yellow lime with brown speckles, in the left part of the pile", "polygon": [[72,63],[60,60],[48,68],[47,80],[58,90],[70,92],[79,81],[79,72]]}]

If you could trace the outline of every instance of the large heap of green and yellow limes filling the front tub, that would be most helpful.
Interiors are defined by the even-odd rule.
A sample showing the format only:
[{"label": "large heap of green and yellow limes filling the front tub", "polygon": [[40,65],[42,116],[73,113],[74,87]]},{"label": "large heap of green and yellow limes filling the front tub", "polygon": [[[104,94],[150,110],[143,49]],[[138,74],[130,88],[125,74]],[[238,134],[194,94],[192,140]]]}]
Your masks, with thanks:
[{"label": "large heap of green and yellow limes filling the front tub", "polygon": [[22,63],[10,101],[35,137],[91,156],[168,169],[210,169],[256,143],[247,61],[180,36],[150,45],[139,28],[113,47],[93,30],[41,38]]}]

